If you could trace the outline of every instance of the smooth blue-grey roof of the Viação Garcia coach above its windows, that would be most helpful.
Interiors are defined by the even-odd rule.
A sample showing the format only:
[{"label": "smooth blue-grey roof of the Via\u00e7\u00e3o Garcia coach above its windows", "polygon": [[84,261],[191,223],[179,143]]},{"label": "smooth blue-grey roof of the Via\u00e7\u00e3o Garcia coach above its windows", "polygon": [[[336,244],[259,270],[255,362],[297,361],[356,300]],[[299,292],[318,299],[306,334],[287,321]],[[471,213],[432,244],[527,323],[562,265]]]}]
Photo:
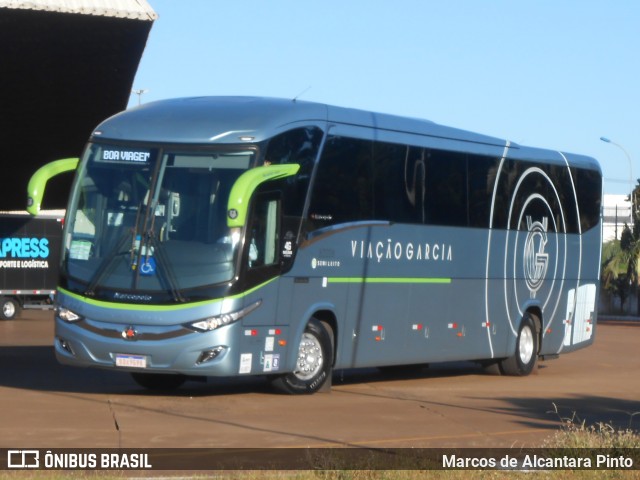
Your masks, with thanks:
[{"label": "smooth blue-grey roof of the Via\u00e7\u00e3o Garcia coach above its windows", "polygon": [[[335,107],[301,100],[267,97],[189,97],[150,102],[102,122],[94,138],[173,144],[238,144],[266,140],[296,126],[342,124],[399,134],[482,145],[500,154],[507,141],[429,120]],[[558,152],[509,143],[509,157],[564,163]],[[499,150],[498,150],[499,149]],[[597,169],[582,155],[567,155],[572,164]]]}]

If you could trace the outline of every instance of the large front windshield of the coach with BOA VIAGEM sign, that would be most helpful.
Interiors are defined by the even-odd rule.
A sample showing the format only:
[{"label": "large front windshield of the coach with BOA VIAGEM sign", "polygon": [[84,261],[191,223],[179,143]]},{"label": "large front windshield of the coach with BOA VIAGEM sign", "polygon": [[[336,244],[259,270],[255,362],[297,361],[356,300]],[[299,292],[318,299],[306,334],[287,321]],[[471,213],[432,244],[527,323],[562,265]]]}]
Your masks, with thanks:
[{"label": "large front windshield of the coach with BOA VIAGEM sign", "polygon": [[246,146],[89,145],[69,205],[63,273],[79,293],[123,301],[180,301],[229,282],[240,239],[227,227],[229,191],[255,154]]}]

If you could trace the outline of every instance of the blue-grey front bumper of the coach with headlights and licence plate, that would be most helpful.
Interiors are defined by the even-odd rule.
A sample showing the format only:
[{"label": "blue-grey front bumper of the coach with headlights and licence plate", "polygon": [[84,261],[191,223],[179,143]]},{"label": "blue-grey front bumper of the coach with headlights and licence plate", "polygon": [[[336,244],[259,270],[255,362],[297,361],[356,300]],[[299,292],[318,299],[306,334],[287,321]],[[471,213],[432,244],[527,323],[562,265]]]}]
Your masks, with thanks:
[{"label": "blue-grey front bumper of the coach with headlights and licence plate", "polygon": [[55,352],[64,365],[148,373],[228,377],[278,373],[283,327],[241,322],[198,332],[182,325],[133,326],[56,317]]}]

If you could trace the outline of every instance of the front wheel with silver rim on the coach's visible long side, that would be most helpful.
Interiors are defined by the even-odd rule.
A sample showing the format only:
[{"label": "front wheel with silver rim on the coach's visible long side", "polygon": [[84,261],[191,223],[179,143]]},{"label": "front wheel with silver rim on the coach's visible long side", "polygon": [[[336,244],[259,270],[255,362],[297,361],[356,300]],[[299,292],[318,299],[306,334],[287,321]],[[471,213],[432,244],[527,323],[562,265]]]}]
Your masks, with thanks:
[{"label": "front wheel with silver rim on the coach's visible long side", "polygon": [[331,378],[333,332],[324,322],[312,318],[298,346],[296,369],[273,380],[278,390],[295,395],[315,393]]}]

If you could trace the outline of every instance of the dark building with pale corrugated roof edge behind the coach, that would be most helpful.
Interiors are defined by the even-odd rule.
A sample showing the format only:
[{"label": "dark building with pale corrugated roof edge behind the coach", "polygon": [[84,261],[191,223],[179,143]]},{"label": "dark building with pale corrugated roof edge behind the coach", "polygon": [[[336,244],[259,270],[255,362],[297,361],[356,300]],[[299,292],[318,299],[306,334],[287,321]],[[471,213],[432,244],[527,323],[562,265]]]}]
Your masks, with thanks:
[{"label": "dark building with pale corrugated roof edge behind the coach", "polygon": [[[37,168],[126,108],[156,18],[146,0],[0,0],[0,210],[24,209]],[[71,177],[44,208],[66,206]]]}]

